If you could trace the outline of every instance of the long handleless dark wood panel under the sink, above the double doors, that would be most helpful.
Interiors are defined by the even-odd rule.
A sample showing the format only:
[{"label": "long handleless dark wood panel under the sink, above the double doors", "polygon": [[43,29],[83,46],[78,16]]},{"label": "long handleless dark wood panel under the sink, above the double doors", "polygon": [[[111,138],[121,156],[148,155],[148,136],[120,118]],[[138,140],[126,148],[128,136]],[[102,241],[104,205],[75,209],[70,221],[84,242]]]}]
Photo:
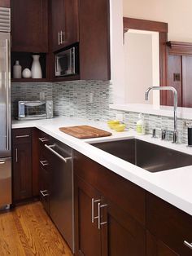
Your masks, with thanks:
[{"label": "long handleless dark wood panel under the sink, above the double doors", "polygon": [[74,152],[73,158],[76,175],[119,205],[142,226],[146,225],[146,192],[142,188],[79,152]]}]

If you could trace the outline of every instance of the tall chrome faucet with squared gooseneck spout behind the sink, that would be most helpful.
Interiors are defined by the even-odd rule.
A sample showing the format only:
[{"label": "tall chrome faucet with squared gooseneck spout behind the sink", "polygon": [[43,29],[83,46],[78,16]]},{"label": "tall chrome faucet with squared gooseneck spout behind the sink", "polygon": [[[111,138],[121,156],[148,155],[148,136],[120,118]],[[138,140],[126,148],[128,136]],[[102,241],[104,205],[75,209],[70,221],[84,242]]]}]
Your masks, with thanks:
[{"label": "tall chrome faucet with squared gooseneck spout behind the sink", "polygon": [[178,141],[178,130],[177,130],[177,90],[172,86],[151,86],[146,90],[145,99],[149,99],[149,92],[151,90],[172,90],[174,94],[174,131],[173,131],[173,143],[177,143]]}]

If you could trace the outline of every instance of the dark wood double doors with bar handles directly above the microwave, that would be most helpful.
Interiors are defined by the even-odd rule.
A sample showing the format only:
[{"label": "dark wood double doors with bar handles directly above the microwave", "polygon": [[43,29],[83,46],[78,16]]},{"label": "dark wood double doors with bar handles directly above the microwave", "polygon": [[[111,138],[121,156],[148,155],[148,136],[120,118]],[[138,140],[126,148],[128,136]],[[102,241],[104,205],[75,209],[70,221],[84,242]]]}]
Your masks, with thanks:
[{"label": "dark wood double doors with bar handles directly above the microwave", "polygon": [[53,51],[78,42],[78,0],[51,0],[50,12]]}]

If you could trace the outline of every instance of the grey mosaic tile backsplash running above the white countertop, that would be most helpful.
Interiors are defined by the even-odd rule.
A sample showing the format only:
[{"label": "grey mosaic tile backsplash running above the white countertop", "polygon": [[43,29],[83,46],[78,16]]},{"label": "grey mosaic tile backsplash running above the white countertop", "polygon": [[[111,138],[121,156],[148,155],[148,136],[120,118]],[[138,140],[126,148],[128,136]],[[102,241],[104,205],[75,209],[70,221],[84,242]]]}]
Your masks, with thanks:
[{"label": "grey mosaic tile backsplash running above the white countertop", "polygon": [[[115,119],[116,113],[124,114],[124,122],[135,129],[138,113],[109,109],[112,104],[112,86],[109,81],[77,81],[59,83],[14,83],[11,85],[11,102],[15,100],[37,100],[40,92],[45,99],[53,99],[55,116],[83,117],[96,121]],[[93,93],[93,103],[89,102],[89,93]],[[12,104],[13,109],[13,104]],[[155,128],[160,136],[161,129],[173,130],[173,118],[144,114],[146,134]],[[187,143],[185,121],[178,119],[178,131],[181,143]],[[172,139],[172,135],[169,136]]]}]

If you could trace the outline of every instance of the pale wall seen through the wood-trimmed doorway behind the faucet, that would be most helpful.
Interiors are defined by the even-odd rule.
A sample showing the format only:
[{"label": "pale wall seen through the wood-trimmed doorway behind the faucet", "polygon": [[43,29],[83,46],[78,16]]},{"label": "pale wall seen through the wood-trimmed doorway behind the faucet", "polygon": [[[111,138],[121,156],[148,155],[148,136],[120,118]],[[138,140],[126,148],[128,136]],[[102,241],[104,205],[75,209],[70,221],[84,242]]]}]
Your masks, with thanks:
[{"label": "pale wall seen through the wood-trimmed doorway behind the faucet", "polygon": [[[153,86],[152,35],[130,31],[124,35],[125,102],[145,104],[145,92]],[[152,95],[149,103],[152,104]]]}]

